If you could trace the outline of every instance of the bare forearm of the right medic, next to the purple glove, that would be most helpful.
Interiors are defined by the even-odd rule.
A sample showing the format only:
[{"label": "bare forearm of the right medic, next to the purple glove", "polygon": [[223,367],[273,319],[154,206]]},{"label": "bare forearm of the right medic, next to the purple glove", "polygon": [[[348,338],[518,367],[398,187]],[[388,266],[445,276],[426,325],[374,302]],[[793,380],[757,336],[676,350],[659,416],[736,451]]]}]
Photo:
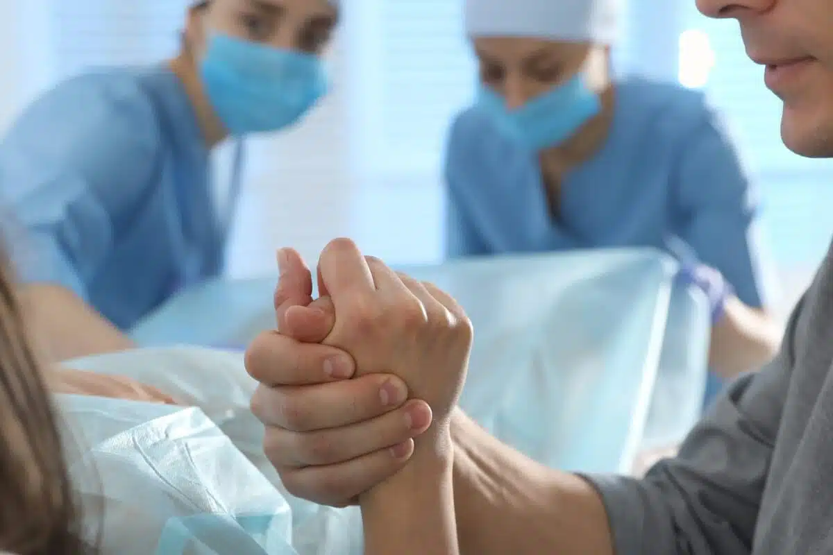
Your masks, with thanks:
[{"label": "bare forearm of the right medic, next to the purple glove", "polygon": [[709,365],[728,379],[761,369],[775,356],[782,331],[763,310],[732,297],[726,302],[725,315],[711,331]]}]

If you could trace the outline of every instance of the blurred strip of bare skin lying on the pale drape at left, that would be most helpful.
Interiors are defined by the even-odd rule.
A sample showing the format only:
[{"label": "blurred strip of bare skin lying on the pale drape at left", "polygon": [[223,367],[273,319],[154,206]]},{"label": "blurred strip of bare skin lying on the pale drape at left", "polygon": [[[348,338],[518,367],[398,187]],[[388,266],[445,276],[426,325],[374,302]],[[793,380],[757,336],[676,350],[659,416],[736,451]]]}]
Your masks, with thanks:
[{"label": "blurred strip of bare skin lying on the pale drape at left", "polygon": [[143,403],[177,404],[156,388],[122,376],[95,374],[83,370],[52,369],[46,374],[52,393],[108,397]]}]

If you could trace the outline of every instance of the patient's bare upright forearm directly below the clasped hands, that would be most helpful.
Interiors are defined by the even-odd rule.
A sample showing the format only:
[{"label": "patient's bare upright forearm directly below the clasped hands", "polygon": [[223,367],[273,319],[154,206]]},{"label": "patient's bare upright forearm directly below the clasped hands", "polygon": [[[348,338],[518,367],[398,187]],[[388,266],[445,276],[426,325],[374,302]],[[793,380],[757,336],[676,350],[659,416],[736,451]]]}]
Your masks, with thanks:
[{"label": "patient's bare upright forearm directly below the clasped hands", "polygon": [[[417,448],[418,449],[418,448]],[[421,453],[362,495],[366,555],[456,555],[453,456]]]}]

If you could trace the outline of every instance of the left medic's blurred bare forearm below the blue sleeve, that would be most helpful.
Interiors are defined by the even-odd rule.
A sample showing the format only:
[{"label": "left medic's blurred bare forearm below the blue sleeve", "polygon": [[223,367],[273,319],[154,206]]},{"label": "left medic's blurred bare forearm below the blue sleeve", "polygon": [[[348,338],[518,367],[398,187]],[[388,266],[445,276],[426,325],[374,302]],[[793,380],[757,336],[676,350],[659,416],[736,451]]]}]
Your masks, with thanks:
[{"label": "left medic's blurred bare forearm below the blue sleeve", "polygon": [[134,346],[116,326],[59,285],[23,285],[21,299],[33,338],[51,362]]}]

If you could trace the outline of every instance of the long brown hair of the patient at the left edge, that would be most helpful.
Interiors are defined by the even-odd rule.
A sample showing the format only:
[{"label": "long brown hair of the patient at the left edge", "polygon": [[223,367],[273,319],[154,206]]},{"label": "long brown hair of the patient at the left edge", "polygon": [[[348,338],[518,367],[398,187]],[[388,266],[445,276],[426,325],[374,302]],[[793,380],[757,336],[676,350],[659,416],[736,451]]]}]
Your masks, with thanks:
[{"label": "long brown hair of the patient at the left edge", "polygon": [[89,553],[77,516],[57,416],[0,246],[0,551]]}]

